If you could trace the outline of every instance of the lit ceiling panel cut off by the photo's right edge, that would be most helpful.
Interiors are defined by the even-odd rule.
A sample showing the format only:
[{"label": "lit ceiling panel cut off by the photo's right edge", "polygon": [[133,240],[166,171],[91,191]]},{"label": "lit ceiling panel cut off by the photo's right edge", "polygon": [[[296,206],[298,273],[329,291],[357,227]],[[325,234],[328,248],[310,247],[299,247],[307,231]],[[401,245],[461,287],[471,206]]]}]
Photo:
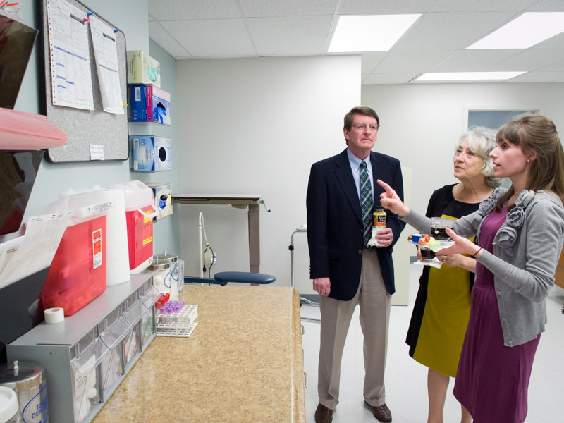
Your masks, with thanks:
[{"label": "lit ceiling panel cut off by the photo's right edge", "polygon": [[564,12],[527,12],[467,50],[528,49],[560,32],[564,32]]}]

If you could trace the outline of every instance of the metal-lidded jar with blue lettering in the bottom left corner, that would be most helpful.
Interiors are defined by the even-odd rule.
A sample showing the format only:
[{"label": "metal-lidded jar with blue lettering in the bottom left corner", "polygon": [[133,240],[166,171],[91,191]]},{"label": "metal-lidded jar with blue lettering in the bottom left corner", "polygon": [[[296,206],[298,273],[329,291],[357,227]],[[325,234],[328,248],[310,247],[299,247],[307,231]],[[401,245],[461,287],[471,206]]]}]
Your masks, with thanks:
[{"label": "metal-lidded jar with blue lettering in the bottom left corner", "polygon": [[18,394],[24,423],[48,423],[47,381],[41,365],[35,362],[14,361],[0,365],[0,386]]}]

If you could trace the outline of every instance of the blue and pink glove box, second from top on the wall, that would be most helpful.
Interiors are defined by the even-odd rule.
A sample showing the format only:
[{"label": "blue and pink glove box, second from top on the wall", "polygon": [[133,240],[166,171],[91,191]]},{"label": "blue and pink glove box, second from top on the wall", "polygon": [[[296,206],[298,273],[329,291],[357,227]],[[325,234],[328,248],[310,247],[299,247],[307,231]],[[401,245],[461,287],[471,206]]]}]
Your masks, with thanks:
[{"label": "blue and pink glove box, second from top on the wall", "polygon": [[171,94],[152,85],[128,87],[130,122],[154,122],[171,125]]}]

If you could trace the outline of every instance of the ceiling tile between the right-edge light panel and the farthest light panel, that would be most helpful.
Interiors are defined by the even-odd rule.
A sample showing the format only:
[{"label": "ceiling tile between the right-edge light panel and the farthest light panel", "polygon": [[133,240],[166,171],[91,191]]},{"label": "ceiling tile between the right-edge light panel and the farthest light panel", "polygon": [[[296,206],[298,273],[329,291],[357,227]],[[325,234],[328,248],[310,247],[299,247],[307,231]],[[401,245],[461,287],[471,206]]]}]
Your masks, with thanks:
[{"label": "ceiling tile between the right-edge light panel and the farthest light panel", "polygon": [[524,50],[460,50],[430,72],[480,72]]}]

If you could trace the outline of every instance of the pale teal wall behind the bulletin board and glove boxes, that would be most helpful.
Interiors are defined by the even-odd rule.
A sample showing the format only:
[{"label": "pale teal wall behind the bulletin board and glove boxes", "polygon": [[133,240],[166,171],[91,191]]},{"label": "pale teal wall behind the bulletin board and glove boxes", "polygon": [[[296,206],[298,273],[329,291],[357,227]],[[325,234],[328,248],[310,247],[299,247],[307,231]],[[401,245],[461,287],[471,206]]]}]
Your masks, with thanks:
[{"label": "pale teal wall behind the bulletin board and glove boxes", "polygon": [[[149,15],[147,0],[82,0],[82,3],[91,8],[99,16],[104,17],[112,25],[115,25],[125,34],[128,50],[143,50],[149,53]],[[39,28],[39,1],[20,2],[22,18],[27,23]],[[152,42],[151,42],[152,43]],[[171,92],[173,99],[173,119],[170,127],[157,125],[141,125],[130,123],[131,134],[153,134],[170,137],[177,142],[178,123],[176,121],[176,61],[164,50],[152,43],[157,60],[163,64],[163,81],[161,87]],[[16,102],[16,110],[39,113],[39,90],[43,90],[39,84],[37,73],[38,59],[36,56],[38,45],[35,46],[34,54],[23,80],[23,85]],[[153,52],[151,51],[152,54]],[[48,59],[48,58],[47,58]],[[43,66],[43,63],[41,63]],[[43,214],[47,204],[57,200],[59,192],[72,188],[74,190],[85,190],[93,185],[101,185],[106,188],[114,183],[139,179],[142,182],[162,181],[171,182],[178,186],[178,162],[173,161],[175,170],[161,172],[151,175],[141,173],[130,173],[129,161],[92,162],[80,164],[51,164],[45,159],[42,162],[37,180],[32,190],[30,202],[27,204],[24,219],[29,216]],[[178,212],[175,209],[174,212]],[[180,252],[180,235],[178,231],[178,213],[155,223],[154,226],[154,251]]]}]

